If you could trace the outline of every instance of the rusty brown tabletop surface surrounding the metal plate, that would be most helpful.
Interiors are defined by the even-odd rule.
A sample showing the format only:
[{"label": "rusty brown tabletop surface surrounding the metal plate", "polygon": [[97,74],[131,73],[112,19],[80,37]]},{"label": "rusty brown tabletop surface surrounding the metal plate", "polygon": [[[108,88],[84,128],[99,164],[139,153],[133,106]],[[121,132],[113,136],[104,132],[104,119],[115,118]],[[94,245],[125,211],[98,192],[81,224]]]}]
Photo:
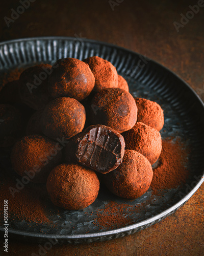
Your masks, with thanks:
[{"label": "rusty brown tabletop surface surrounding the metal plate", "polygon": [[[1,3],[0,41],[48,35],[107,41],[162,63],[204,100],[204,7],[178,33],[173,22],[180,22],[180,14],[198,1],[118,2],[113,11],[108,0],[37,0],[8,28],[3,18],[10,17],[19,2],[7,0]],[[203,198],[204,184],[175,214],[139,233],[104,243],[54,246],[46,255],[202,255]],[[33,252],[39,255],[38,244],[9,240],[6,255]]]}]

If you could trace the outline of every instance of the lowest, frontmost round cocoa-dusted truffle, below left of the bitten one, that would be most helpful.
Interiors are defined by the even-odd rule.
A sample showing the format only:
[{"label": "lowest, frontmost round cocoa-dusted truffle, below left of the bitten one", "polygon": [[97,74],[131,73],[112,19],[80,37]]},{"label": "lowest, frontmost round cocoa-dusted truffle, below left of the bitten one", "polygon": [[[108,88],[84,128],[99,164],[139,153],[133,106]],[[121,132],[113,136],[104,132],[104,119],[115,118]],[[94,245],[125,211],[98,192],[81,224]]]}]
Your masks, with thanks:
[{"label": "lowest, frontmost round cocoa-dusted truffle, below left of the bitten one", "polygon": [[92,204],[99,190],[95,172],[77,163],[56,166],[47,179],[51,201],[68,210],[84,209]]}]

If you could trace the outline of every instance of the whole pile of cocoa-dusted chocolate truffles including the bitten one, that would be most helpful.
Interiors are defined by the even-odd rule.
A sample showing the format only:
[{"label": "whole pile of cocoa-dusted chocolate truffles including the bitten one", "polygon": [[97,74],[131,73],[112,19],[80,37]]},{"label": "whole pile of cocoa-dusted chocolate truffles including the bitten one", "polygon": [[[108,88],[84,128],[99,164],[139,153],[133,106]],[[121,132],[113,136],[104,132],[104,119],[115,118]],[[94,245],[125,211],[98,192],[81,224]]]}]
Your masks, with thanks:
[{"label": "whole pile of cocoa-dusted chocolate truffles including the bitten one", "polygon": [[15,172],[46,183],[50,200],[69,210],[93,203],[99,180],[119,197],[142,196],[162,150],[161,107],[133,98],[97,56],[24,70],[0,92],[0,119],[0,146],[12,146]]}]

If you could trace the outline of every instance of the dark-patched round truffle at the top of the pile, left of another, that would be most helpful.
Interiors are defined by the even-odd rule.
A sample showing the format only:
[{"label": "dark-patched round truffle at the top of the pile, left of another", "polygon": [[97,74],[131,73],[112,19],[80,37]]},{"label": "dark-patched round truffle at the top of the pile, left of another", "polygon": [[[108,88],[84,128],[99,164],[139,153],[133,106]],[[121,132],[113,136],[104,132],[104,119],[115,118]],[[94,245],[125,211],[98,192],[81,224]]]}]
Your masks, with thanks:
[{"label": "dark-patched round truffle at the top of the pile, left of another", "polygon": [[85,99],[94,87],[94,76],[87,63],[74,58],[59,59],[48,79],[48,90],[53,98]]}]

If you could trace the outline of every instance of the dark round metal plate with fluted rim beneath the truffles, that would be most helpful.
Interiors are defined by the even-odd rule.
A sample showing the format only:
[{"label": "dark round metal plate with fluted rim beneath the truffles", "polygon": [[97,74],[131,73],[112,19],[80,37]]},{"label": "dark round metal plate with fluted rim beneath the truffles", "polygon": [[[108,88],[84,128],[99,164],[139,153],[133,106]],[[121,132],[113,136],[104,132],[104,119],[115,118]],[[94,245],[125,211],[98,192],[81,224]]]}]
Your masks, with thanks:
[{"label": "dark round metal plate with fluted rim beneath the truffles", "polygon": [[[152,197],[149,188],[147,193],[136,200],[120,199],[101,186],[95,202],[79,211],[54,207],[47,199],[46,217],[54,221],[56,227],[19,221],[14,216],[14,221],[9,225],[10,236],[39,243],[54,239],[58,243],[74,244],[123,237],[171,215],[185,204],[204,180],[204,105],[185,81],[157,62],[94,40],[76,40],[71,37],[25,38],[0,43],[0,75],[16,67],[28,67],[41,62],[53,64],[63,57],[83,60],[93,55],[111,61],[129,83],[130,92],[134,96],[157,101],[162,106],[165,116],[162,138],[179,136],[191,148],[187,156],[190,169],[187,184],[164,191],[164,197]],[[7,163],[10,166],[7,156],[2,155],[1,160],[4,166]],[[8,169],[13,172],[11,168]],[[134,206],[142,205],[147,200],[148,204],[135,211]],[[117,202],[118,210],[120,205],[126,205],[122,215],[127,216],[129,221],[125,225],[110,225],[101,229],[94,224],[97,222],[96,213],[99,210],[103,212],[110,201]],[[3,227],[0,230],[3,231]]]}]

